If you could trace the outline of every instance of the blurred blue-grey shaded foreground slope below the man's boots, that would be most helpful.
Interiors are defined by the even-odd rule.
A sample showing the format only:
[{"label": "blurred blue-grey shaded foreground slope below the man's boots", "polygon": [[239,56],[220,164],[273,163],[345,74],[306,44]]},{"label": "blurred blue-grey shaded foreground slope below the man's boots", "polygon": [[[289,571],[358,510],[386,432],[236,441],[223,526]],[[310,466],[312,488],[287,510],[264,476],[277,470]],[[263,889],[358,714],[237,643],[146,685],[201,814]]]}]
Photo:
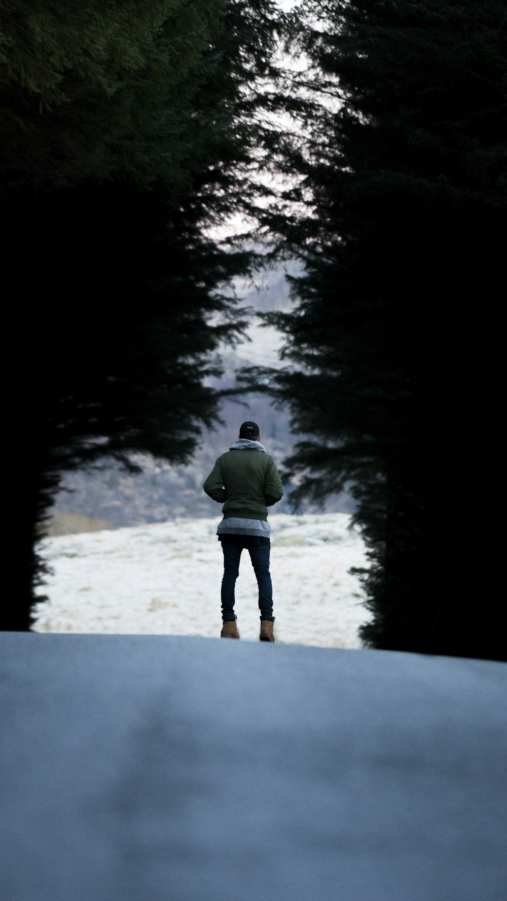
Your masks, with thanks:
[{"label": "blurred blue-grey shaded foreground slope below the man's boots", "polygon": [[0,633],[8,901],[503,901],[507,667]]}]

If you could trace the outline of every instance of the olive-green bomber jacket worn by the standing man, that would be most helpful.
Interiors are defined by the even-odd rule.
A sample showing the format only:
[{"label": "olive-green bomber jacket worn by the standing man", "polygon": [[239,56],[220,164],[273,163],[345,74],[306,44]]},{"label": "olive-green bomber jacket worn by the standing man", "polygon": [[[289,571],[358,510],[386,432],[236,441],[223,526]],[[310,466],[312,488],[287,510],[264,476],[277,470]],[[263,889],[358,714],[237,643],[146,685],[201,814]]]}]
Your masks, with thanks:
[{"label": "olive-green bomber jacket worn by the standing man", "polygon": [[224,516],[267,519],[267,506],[284,494],[275,460],[259,441],[236,441],[222,453],[204,482],[204,491],[223,504]]}]

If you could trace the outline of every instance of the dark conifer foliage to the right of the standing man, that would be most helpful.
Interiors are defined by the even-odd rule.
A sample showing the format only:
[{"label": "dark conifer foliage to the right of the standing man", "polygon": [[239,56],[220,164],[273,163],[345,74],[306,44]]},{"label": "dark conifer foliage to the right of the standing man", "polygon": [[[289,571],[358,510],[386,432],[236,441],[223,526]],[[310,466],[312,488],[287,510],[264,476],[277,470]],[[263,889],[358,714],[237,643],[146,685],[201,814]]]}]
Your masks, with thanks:
[{"label": "dark conifer foliage to the right of the standing man", "polygon": [[505,25],[500,0],[308,0],[292,18],[321,106],[306,145],[278,148],[303,212],[265,224],[304,273],[294,313],[268,317],[289,365],[266,386],[316,436],[288,461],[299,496],[357,499],[376,648],[504,659],[467,523],[491,447],[481,342],[504,283]]}]

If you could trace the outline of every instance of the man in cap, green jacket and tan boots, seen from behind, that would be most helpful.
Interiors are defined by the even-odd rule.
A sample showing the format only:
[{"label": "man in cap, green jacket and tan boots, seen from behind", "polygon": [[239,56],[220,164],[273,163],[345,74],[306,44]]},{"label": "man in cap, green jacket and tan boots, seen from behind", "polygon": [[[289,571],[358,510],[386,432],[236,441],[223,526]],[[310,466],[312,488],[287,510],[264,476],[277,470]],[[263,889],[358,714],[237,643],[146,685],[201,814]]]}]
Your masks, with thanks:
[{"label": "man in cap, green jacket and tan boots, seen from behind", "polygon": [[222,542],[222,638],[240,638],[234,614],[234,586],[240,573],[240,556],[247,548],[258,582],[261,642],[274,642],[273,587],[269,575],[269,524],[267,506],[283,496],[275,460],[260,443],[257,423],[243,423],[240,440],[222,453],[204,482],[204,491],[223,504],[217,529]]}]

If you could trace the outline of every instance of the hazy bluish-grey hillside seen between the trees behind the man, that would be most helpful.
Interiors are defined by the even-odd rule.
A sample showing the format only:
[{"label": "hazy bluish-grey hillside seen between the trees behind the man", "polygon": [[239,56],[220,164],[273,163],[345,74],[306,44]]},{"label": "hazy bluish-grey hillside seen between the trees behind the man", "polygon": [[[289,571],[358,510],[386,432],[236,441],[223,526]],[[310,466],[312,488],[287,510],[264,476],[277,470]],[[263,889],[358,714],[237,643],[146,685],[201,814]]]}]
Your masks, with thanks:
[{"label": "hazy bluish-grey hillside seen between the trees behind the man", "polygon": [[[294,272],[295,264],[287,268]],[[291,305],[285,271],[281,269],[264,272],[254,286],[238,283],[236,292],[256,314],[285,310]],[[240,366],[277,364],[282,340],[274,328],[262,327],[254,317],[248,337],[249,341],[234,350],[222,350],[222,387],[234,385]],[[124,472],[118,464],[109,461],[104,469],[66,474],[64,490],[59,492],[53,507],[49,534],[162,523],[177,517],[220,516],[222,507],[204,495],[203,482],[216,458],[236,440],[240,423],[246,419],[259,424],[261,441],[282,468],[284,458],[298,438],[290,430],[288,410],[272,406],[265,395],[244,396],[241,402],[225,400],[222,403],[224,424],[206,433],[188,466],[175,467],[164,460],[136,455],[132,459],[143,469],[138,476]],[[285,496],[273,512],[293,512],[289,494],[290,486],[285,484]],[[353,509],[352,499],[345,494],[330,497],[324,507],[328,513],[350,513]],[[318,508],[307,504],[303,505],[302,512],[315,513]]]}]

